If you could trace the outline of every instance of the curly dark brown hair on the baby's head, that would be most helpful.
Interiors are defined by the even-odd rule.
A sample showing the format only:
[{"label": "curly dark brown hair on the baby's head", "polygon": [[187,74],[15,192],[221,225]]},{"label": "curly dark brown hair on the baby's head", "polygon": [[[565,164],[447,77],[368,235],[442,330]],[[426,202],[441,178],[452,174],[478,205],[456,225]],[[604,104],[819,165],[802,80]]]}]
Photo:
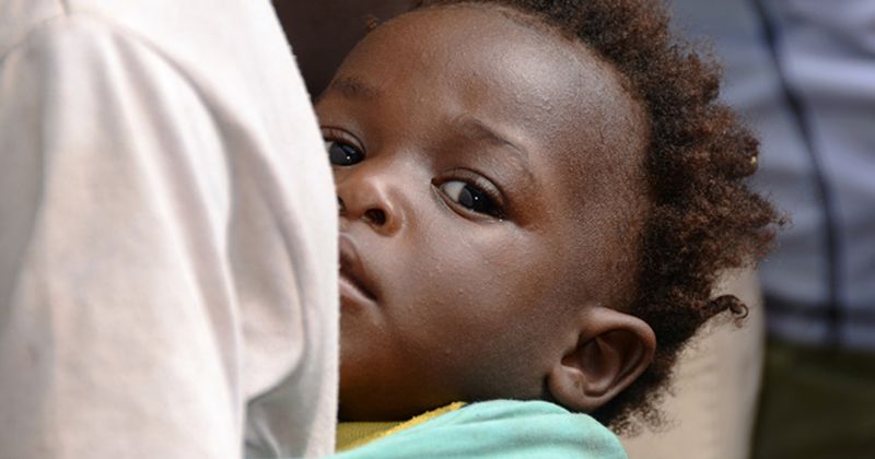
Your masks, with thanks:
[{"label": "curly dark brown hair on the baby's head", "polygon": [[576,37],[628,80],[650,122],[645,175],[652,211],[640,236],[637,292],[617,305],[645,320],[657,349],[645,373],[592,413],[618,432],[658,425],[657,401],[684,345],[712,317],[747,313],[735,296],[714,296],[725,271],[769,249],[781,223],[751,191],[758,142],[718,102],[719,67],[669,32],[654,0],[422,0],[508,7]]}]

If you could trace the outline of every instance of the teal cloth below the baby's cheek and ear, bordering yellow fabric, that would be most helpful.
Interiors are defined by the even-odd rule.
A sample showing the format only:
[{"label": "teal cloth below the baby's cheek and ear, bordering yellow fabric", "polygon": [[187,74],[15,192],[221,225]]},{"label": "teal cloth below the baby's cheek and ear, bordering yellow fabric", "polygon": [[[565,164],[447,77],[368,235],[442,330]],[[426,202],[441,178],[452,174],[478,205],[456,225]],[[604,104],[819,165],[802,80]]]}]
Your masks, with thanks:
[{"label": "teal cloth below the baby's cheek and ear, bordering yellow fabric", "polygon": [[592,416],[514,400],[472,403],[332,457],[627,459],[617,436]]}]

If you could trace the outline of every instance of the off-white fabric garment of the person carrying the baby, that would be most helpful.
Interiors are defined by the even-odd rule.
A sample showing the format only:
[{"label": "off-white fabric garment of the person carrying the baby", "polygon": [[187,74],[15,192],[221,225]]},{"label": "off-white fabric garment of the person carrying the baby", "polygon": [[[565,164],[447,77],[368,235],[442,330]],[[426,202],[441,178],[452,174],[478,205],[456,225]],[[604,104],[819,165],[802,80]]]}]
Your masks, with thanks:
[{"label": "off-white fabric garment of the person carrying the baby", "polygon": [[330,452],[336,226],[268,1],[0,0],[0,458]]}]

